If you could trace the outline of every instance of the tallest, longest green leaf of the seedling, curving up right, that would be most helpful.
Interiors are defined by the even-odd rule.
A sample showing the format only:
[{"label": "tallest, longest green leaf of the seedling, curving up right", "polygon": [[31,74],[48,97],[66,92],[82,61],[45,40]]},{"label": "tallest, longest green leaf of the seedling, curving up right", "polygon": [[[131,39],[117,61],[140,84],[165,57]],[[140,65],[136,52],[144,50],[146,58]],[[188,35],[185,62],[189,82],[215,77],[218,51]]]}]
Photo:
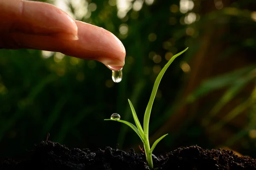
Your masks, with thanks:
[{"label": "tallest, longest green leaf of the seedling, curving up right", "polygon": [[157,76],[156,81],[154,82],[154,87],[153,87],[153,90],[152,90],[152,93],[151,93],[151,96],[150,96],[150,99],[149,99],[149,102],[148,102],[148,105],[147,105],[147,108],[146,108],[146,111],[145,111],[145,115],[144,115],[144,123],[143,123],[144,139],[145,139],[145,136],[146,136],[146,138],[148,138],[148,125],[149,125],[150,113],[151,113],[152,105],[153,105],[153,102],[154,102],[154,98],[157,94],[157,88],[160,84],[160,81],[163,77],[163,74],[166,72],[167,68],[171,65],[171,63],[174,61],[174,59],[176,57],[178,57],[180,54],[184,53],[187,49],[188,48],[186,48],[185,50],[181,51],[180,53],[174,55],[169,60],[169,62],[167,62],[167,64],[163,67],[163,69],[160,71],[160,73]]}]

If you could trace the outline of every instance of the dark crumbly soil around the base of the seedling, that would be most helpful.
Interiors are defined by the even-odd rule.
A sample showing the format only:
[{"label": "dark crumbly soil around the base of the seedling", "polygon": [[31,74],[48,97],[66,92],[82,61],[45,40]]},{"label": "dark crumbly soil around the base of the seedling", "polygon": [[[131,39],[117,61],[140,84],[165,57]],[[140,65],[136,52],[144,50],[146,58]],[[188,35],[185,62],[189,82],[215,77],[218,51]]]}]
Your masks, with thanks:
[{"label": "dark crumbly soil around the base of the seedling", "polygon": [[[256,160],[237,156],[229,150],[204,150],[198,146],[180,147],[164,156],[153,155],[158,170],[256,170]],[[23,161],[6,159],[0,170],[149,170],[144,153],[133,149],[126,153],[106,147],[69,149],[51,141],[43,141],[28,152]]]}]

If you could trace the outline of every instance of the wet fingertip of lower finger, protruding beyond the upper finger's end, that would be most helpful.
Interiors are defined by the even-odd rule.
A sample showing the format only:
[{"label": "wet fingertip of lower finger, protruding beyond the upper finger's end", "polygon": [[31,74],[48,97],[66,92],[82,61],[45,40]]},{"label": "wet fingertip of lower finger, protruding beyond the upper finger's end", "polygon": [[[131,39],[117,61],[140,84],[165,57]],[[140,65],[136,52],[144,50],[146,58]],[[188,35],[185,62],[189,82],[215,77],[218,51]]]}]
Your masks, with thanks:
[{"label": "wet fingertip of lower finger, protruding beyond the upper finger's end", "polygon": [[[109,65],[120,68],[125,65],[125,47],[113,33],[81,21],[76,21],[76,25],[79,28],[79,40],[70,46],[69,51],[72,51],[70,54],[83,59],[97,60],[107,67]],[[69,45],[71,44],[69,43]],[[76,51],[73,50],[74,48]],[[112,68],[111,70],[116,69]]]}]

